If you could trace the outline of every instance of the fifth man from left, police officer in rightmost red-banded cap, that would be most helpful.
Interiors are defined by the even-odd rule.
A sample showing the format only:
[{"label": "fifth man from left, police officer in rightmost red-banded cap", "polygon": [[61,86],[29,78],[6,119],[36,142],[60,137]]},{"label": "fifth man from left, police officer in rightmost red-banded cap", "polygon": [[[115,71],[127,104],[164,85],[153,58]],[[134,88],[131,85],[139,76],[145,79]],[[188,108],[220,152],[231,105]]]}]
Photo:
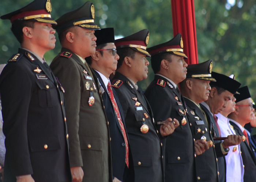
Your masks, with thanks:
[{"label": "fifth man from left, police officer in rightmost red-banded cap", "polygon": [[[203,140],[195,141],[184,99],[176,84],[186,78],[188,64],[183,52],[180,33],[172,40],[147,49],[152,55],[151,66],[155,73],[154,80],[145,91],[145,96],[152,107],[156,120],[176,118],[180,126],[172,135],[164,139],[165,146],[165,181],[195,181],[195,155],[204,152],[208,144]],[[166,143],[166,144],[165,144]],[[180,171],[186,171],[181,175]]]}]

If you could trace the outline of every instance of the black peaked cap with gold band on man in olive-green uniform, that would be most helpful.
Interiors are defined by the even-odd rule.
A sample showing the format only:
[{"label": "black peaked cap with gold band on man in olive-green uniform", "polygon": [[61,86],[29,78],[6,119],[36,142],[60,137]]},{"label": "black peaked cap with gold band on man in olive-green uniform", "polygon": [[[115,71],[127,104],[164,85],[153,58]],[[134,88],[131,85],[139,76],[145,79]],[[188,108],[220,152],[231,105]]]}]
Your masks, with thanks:
[{"label": "black peaked cap with gold band on man in olive-green uniform", "polygon": [[58,34],[74,26],[92,30],[100,29],[98,25],[94,24],[94,5],[90,1],[78,9],[62,15],[56,22],[58,24],[54,28]]}]

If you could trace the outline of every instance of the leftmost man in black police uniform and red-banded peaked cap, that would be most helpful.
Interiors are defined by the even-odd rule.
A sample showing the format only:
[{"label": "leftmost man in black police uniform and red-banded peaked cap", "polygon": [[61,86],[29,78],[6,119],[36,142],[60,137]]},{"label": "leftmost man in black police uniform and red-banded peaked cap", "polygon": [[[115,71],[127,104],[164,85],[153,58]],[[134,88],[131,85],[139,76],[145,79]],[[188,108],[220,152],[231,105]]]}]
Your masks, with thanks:
[{"label": "leftmost man in black police uniform and red-banded peaked cap", "polygon": [[4,181],[72,181],[63,92],[43,58],[55,46],[49,0],[1,16],[20,42],[0,76]]}]

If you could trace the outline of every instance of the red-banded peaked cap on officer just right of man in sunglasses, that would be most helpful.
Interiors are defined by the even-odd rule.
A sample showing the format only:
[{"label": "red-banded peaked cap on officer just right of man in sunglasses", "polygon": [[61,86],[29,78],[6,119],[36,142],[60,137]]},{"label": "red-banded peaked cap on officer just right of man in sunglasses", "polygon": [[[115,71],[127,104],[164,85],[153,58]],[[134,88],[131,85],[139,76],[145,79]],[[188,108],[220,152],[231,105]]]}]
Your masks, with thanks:
[{"label": "red-banded peaked cap on officer just right of man in sunglasses", "polygon": [[115,46],[117,49],[129,47],[150,57],[150,54],[147,52],[148,39],[149,31],[148,29],[143,29],[127,37],[115,40]]}]

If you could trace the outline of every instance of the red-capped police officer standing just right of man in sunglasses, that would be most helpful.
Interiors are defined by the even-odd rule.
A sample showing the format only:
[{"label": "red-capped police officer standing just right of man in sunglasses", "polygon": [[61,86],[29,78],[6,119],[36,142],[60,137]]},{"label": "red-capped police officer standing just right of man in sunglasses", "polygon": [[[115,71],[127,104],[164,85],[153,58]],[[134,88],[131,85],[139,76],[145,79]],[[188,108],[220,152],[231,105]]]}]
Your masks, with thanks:
[{"label": "red-capped police officer standing just right of man in sunglasses", "polygon": [[[137,82],[147,78],[146,51],[149,33],[147,29],[115,40],[120,59],[112,87],[117,92],[123,108],[124,122],[131,142],[135,181],[162,182],[162,143],[155,128],[153,113]],[[161,137],[167,136],[178,126],[165,118],[160,127]],[[159,123],[160,124],[160,123]]]}]

